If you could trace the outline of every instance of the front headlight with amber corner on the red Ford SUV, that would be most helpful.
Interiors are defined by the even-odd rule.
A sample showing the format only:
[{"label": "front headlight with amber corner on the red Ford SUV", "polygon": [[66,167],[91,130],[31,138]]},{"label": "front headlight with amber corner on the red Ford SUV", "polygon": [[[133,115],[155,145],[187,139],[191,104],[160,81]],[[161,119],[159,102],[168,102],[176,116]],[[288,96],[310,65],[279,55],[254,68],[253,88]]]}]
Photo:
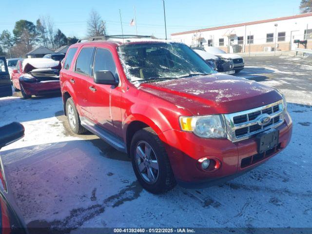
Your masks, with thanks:
[{"label": "front headlight with amber corner on the red Ford SUV", "polygon": [[193,132],[198,137],[225,137],[225,129],[221,116],[179,117],[182,131]]}]

